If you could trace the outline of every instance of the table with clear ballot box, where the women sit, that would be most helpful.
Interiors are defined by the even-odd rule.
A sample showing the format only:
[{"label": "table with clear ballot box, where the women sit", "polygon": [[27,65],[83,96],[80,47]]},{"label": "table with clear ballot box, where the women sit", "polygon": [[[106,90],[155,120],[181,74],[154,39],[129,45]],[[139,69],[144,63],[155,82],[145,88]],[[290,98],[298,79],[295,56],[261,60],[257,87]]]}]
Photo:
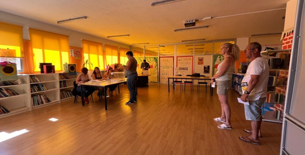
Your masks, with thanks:
[{"label": "table with clear ballot box, where the women sit", "polygon": [[84,104],[84,96],[83,96],[83,89],[82,89],[83,86],[87,86],[87,87],[88,86],[89,87],[102,87],[102,88],[104,88],[105,110],[107,110],[107,96],[106,96],[107,95],[107,88],[109,86],[111,86],[111,85],[117,84],[118,91],[120,93],[120,84],[122,84],[122,83],[126,83],[126,78],[125,78],[124,81],[111,81],[111,80],[109,80],[109,81],[103,81],[102,83],[100,83],[100,82],[93,82],[92,84],[91,84],[90,81],[88,81],[86,83],[79,84],[79,85],[81,85],[81,102],[82,102],[82,105],[85,106],[85,104]]}]

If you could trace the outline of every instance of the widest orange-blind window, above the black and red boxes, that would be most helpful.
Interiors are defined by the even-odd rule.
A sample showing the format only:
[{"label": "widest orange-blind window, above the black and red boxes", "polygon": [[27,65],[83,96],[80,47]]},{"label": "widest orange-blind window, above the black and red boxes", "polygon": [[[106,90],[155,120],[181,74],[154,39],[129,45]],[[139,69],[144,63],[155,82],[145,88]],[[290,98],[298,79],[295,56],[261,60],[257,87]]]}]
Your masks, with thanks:
[{"label": "widest orange-blind window, above the black and red boxes", "polygon": [[69,36],[30,28],[33,48],[34,71],[40,71],[39,63],[52,63],[56,71],[63,70],[69,61]]}]

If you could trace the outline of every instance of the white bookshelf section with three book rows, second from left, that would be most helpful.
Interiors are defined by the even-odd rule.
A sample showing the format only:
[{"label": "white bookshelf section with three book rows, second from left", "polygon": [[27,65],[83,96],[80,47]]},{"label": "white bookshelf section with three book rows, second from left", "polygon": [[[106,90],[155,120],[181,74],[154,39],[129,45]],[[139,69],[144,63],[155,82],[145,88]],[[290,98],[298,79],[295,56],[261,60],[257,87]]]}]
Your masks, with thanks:
[{"label": "white bookshelf section with three book rows, second from left", "polygon": [[[29,87],[32,88],[30,92],[30,101],[31,101],[31,106],[32,109],[37,109],[41,107],[45,107],[48,105],[53,105],[56,103],[60,102],[60,96],[59,96],[59,77],[58,73],[51,73],[51,74],[29,74],[29,79],[30,79],[30,84]],[[33,77],[36,79],[39,79],[39,81],[34,81]],[[45,86],[43,88],[38,88],[39,90],[37,91],[36,89],[33,90],[33,86],[36,88],[38,86]],[[47,90],[45,89],[47,88]],[[45,95],[45,96],[44,96]],[[36,97],[36,98],[35,98]],[[37,104],[34,99],[38,100],[44,100],[45,102],[42,102],[41,104]],[[47,99],[45,99],[47,97]],[[39,102],[39,101],[38,101]]]}]

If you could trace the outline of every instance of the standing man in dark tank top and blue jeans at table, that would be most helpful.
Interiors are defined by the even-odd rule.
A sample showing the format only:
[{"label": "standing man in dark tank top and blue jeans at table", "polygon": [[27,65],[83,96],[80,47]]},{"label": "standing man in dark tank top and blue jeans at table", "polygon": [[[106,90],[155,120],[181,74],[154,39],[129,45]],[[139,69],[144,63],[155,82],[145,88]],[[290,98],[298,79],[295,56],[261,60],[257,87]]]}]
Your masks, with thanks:
[{"label": "standing man in dark tank top and blue jeans at table", "polygon": [[127,77],[127,87],[130,92],[130,98],[129,101],[125,103],[125,105],[133,104],[134,102],[137,102],[137,96],[136,96],[136,81],[138,78],[138,72],[137,72],[137,60],[135,60],[135,57],[133,57],[133,53],[131,51],[126,52],[126,56],[128,58],[128,61],[126,63],[126,66],[123,65],[122,68],[125,72],[125,77]]}]

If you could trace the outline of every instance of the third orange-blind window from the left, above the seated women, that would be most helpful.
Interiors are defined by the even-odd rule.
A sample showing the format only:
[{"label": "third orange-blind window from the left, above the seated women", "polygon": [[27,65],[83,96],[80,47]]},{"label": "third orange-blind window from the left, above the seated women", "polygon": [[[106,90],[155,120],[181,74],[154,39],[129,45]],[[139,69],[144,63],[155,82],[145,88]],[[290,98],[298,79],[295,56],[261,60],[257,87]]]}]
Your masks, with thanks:
[{"label": "third orange-blind window from the left, above the seated women", "polygon": [[89,70],[94,70],[94,67],[99,67],[100,70],[105,69],[102,47],[102,43],[83,40],[84,62],[88,60],[88,63],[92,63],[92,65],[85,64]]}]

